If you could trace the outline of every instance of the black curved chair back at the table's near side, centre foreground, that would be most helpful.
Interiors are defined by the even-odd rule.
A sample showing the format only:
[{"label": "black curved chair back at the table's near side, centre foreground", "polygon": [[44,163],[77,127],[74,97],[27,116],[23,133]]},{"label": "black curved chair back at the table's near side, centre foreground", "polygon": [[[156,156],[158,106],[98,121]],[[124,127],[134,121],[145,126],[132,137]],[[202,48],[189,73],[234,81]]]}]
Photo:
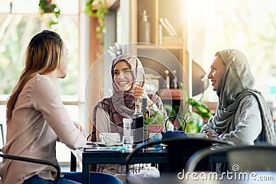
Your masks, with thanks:
[{"label": "black curved chair back at the table's near side, centre foreground", "polygon": [[[211,146],[219,146],[219,145],[233,145],[232,142],[228,141],[221,141],[218,139],[199,139],[199,138],[178,138],[178,139],[164,139],[161,141],[156,141],[153,143],[147,143],[141,145],[136,150],[128,154],[126,157],[126,174],[128,176],[129,172],[129,165],[133,163],[132,159],[134,159],[135,154],[137,152],[141,152],[142,150],[146,149],[147,147],[153,147],[156,145],[164,145],[167,150],[168,159],[166,164],[161,165],[159,164],[159,171],[160,172],[172,172],[178,173],[181,172],[185,165],[195,152],[201,150],[205,147]],[[204,163],[200,167],[208,167],[208,163]]]}]

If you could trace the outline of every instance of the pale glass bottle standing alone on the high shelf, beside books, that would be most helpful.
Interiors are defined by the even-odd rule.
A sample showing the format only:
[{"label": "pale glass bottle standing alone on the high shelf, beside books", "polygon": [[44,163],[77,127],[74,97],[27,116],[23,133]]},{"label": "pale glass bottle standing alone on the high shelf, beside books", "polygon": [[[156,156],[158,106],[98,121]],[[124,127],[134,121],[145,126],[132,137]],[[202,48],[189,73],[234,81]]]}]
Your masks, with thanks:
[{"label": "pale glass bottle standing alone on the high shelf, beside books", "polygon": [[139,22],[138,41],[150,43],[150,22],[148,21],[146,10],[143,11]]}]

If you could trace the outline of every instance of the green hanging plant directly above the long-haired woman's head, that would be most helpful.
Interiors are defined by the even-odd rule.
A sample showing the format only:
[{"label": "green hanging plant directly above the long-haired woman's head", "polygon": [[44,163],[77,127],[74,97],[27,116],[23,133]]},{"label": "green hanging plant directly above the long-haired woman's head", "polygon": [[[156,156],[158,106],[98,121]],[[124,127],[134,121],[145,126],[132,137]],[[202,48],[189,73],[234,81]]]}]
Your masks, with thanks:
[{"label": "green hanging plant directly above the long-haired woman's head", "polygon": [[49,22],[50,27],[59,23],[58,18],[60,15],[60,9],[56,3],[52,2],[52,0],[39,0],[39,10],[41,14],[55,15],[55,17],[53,17]]}]

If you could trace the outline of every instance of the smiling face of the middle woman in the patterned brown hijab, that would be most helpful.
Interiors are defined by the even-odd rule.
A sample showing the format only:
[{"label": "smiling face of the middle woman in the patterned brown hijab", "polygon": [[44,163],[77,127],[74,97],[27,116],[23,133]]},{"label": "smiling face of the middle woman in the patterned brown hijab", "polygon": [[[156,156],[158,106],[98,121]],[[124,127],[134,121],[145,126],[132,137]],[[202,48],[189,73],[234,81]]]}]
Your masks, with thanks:
[{"label": "smiling face of the middle woman in the patterned brown hijab", "polygon": [[132,74],[130,64],[128,64],[126,61],[119,61],[115,65],[113,72],[113,81],[120,91],[127,92],[132,88],[134,76]]}]

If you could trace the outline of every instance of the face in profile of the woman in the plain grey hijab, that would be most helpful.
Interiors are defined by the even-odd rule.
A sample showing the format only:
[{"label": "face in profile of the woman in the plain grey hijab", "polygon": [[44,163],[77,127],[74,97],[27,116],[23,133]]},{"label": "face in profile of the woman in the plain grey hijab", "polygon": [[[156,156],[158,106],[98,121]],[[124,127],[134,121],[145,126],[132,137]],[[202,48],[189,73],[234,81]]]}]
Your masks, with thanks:
[{"label": "face in profile of the woman in the plain grey hijab", "polygon": [[211,79],[214,91],[217,91],[217,85],[219,85],[219,80],[221,78],[222,72],[224,71],[224,67],[224,61],[222,61],[219,55],[216,55],[213,63],[210,66],[211,70],[208,74],[208,79]]}]

